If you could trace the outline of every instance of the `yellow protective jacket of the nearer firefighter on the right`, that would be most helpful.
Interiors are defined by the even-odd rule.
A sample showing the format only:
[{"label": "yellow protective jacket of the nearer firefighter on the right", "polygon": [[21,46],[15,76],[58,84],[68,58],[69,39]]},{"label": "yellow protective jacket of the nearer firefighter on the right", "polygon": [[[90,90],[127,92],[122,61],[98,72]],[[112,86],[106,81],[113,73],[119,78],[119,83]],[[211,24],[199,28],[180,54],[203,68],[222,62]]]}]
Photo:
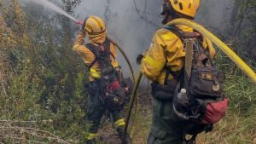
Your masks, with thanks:
[{"label": "yellow protective jacket of the nearer firefighter on the right", "polygon": [[[177,27],[182,29],[183,32],[193,32],[193,29],[188,26]],[[212,42],[203,37],[201,44],[204,49],[209,49],[209,54],[213,59],[215,49],[213,49]],[[172,72],[180,72],[183,68],[184,57],[185,50],[179,37],[165,28],[160,28],[155,32],[152,44],[142,60],[141,72],[148,79],[163,85],[166,78],[165,66]],[[173,76],[170,74],[169,79],[172,78]]]}]

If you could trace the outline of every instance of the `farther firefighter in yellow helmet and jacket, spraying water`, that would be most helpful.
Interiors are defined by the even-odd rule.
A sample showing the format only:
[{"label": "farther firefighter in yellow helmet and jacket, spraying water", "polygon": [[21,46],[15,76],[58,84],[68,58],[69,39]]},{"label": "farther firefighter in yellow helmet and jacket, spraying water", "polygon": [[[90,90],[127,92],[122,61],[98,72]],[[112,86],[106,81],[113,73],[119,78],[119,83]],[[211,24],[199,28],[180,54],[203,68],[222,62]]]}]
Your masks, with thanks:
[{"label": "farther firefighter in yellow helmet and jacket, spraying water", "polygon": [[[84,44],[85,36],[88,36],[89,43]],[[117,54],[113,43],[107,37],[105,22],[97,16],[86,18],[73,50],[80,55],[90,71],[88,87],[90,96],[86,114],[91,126],[90,133],[85,135],[87,143],[95,143],[101,118],[106,110],[111,113],[121,138],[125,127],[122,115],[123,101],[113,91],[119,93],[123,91],[118,78],[119,63],[115,60]],[[130,143],[131,140],[129,136],[127,137],[126,143]]]}]

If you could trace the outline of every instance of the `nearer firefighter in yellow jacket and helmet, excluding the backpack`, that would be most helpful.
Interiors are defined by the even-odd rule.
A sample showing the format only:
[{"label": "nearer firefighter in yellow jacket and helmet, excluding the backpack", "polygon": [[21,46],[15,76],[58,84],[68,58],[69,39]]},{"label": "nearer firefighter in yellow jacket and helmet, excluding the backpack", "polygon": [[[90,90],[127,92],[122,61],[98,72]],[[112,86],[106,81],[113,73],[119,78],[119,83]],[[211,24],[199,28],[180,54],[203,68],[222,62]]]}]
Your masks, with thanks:
[{"label": "nearer firefighter in yellow jacket and helmet, excluding the backpack", "polygon": [[[163,24],[177,19],[193,20],[200,0],[164,0],[161,14]],[[183,32],[193,32],[189,26],[177,26]],[[202,37],[201,45],[211,58],[215,55],[212,42]],[[141,60],[141,72],[152,80],[153,122],[148,144],[181,144],[184,131],[172,121],[172,96],[179,82],[184,66],[185,50],[183,41],[176,33],[160,28],[154,33],[152,44]],[[172,95],[154,95],[157,90],[166,89]],[[161,94],[161,93],[158,93]]]}]

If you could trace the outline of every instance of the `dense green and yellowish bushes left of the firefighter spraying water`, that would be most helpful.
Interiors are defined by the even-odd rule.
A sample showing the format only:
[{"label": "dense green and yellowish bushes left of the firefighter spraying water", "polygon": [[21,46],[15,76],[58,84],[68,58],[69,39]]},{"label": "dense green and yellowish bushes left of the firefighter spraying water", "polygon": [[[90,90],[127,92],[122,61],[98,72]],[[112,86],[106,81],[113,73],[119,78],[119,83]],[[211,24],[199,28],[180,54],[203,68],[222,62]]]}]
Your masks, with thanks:
[{"label": "dense green and yellowish bushes left of the firefighter spraying water", "polygon": [[[0,2],[0,141],[83,141],[86,72],[70,43],[75,27],[32,3]],[[72,13],[80,2],[63,3]]]}]

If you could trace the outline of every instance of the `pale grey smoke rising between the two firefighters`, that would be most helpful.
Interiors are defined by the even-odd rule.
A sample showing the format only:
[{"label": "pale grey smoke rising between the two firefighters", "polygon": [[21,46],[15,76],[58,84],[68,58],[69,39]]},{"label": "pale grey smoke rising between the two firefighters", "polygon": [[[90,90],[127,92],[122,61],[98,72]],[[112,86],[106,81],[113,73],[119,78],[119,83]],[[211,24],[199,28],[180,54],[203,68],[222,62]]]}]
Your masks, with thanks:
[{"label": "pale grey smoke rising between the two firefighters", "polygon": [[[87,0],[82,2],[76,13],[84,20],[89,15],[97,15],[107,21],[108,34],[118,42],[131,60],[132,66],[138,67],[136,57],[148,49],[151,38],[157,26],[160,26],[160,3],[158,1],[137,1],[135,3],[126,0]],[[154,8],[154,7],[155,8]],[[138,14],[139,13],[139,14]],[[143,15],[145,20],[140,17]],[[123,70],[128,71],[121,55],[119,61]]]}]

